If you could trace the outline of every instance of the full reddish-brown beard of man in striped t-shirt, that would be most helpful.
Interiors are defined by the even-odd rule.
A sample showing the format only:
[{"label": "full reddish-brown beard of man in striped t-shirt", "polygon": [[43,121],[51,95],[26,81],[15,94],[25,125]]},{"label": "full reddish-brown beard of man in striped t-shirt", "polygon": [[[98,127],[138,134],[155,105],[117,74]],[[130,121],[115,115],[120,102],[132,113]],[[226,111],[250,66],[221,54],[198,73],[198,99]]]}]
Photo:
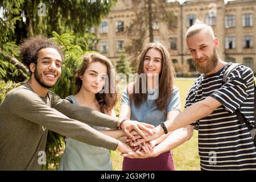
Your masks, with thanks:
[{"label": "full reddish-brown beard of man in striped t-shirt", "polygon": [[194,63],[196,65],[196,70],[199,73],[203,73],[203,74],[207,74],[207,73],[211,72],[217,66],[217,63],[218,63],[218,55],[217,55],[216,49],[213,49],[212,57],[203,57],[203,59],[205,59],[207,61],[207,63],[205,65],[201,65],[199,63],[199,60],[201,60],[201,59],[194,60]]}]

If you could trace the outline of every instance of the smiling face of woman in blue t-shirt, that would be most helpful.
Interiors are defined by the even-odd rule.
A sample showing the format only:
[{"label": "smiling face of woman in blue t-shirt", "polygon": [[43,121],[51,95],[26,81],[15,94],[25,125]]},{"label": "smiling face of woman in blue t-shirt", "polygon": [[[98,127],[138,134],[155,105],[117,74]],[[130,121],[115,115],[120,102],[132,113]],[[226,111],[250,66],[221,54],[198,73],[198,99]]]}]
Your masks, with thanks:
[{"label": "smiling face of woman in blue t-shirt", "polygon": [[148,49],[143,62],[143,72],[148,73],[160,73],[162,70],[162,55],[154,48]]}]

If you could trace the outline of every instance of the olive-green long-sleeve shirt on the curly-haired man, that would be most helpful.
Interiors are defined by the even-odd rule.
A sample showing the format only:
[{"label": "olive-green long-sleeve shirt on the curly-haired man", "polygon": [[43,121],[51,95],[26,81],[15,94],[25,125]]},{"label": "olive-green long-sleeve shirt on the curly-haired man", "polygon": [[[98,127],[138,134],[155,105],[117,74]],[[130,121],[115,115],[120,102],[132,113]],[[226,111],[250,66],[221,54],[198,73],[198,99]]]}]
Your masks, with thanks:
[{"label": "olive-green long-sleeve shirt on the curly-haired man", "polygon": [[0,170],[40,170],[48,129],[115,150],[118,140],[85,123],[115,128],[117,122],[118,118],[70,104],[51,91],[42,98],[23,84],[7,93],[0,105]]}]

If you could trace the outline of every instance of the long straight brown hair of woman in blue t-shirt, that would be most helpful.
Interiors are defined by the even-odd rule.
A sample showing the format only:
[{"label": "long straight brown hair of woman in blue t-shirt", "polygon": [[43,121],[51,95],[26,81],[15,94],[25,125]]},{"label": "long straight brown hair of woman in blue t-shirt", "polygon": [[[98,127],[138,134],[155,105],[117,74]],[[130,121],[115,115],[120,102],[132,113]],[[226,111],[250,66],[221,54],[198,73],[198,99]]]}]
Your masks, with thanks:
[{"label": "long straight brown hair of woman in blue t-shirt", "polygon": [[[175,77],[174,66],[172,64],[171,55],[163,44],[148,43],[142,48],[142,52],[137,57],[137,63],[139,63],[137,71],[138,75],[144,73],[144,58],[147,51],[151,48],[158,50],[162,55],[162,68],[159,73],[159,95],[154,103],[159,110],[164,112],[167,109],[167,104],[173,91]],[[135,88],[139,88],[139,93],[135,93]],[[147,100],[147,93],[142,93],[142,81],[139,77],[137,77],[137,80],[135,80],[135,83],[133,84],[133,92],[129,94],[129,98],[134,101],[135,106],[139,106]]]}]

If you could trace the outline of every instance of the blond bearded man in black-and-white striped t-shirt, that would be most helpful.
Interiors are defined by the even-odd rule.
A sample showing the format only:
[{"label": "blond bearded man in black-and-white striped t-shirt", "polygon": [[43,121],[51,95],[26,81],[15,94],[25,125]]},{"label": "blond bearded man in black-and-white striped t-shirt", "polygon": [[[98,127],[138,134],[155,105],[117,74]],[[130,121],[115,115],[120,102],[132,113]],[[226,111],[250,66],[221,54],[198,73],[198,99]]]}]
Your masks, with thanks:
[{"label": "blond bearded man in black-and-white striped t-shirt", "polygon": [[[256,170],[256,148],[245,123],[240,124],[237,109],[254,126],[254,75],[253,71],[239,65],[222,84],[222,78],[230,63],[217,54],[218,39],[213,30],[203,22],[191,26],[185,35],[188,49],[198,72],[202,73],[187,94],[185,110],[173,121],[156,127],[156,135],[170,134],[168,143],[175,148],[199,130],[199,156],[201,170]],[[141,139],[135,145],[143,142]],[[154,142],[153,142],[154,143]],[[166,150],[161,144],[151,154],[130,152],[129,158],[148,158]]]}]

